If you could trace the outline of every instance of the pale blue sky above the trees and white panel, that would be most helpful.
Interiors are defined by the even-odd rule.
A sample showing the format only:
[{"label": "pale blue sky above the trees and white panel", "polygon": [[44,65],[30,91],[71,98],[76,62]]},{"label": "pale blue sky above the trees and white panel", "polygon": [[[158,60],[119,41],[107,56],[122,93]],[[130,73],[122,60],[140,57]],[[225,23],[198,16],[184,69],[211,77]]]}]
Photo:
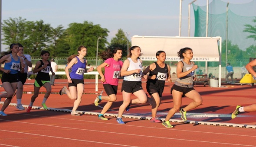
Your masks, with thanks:
[{"label": "pale blue sky above the trees and white panel", "polygon": [[[72,22],[92,22],[108,29],[108,42],[122,29],[128,38],[140,36],[178,36],[180,0],[1,0],[1,18],[22,17],[27,21],[43,20],[53,28],[66,29]],[[182,0],[181,36],[188,36],[188,5]],[[209,0],[209,3],[212,0]],[[252,0],[222,0],[248,3]],[[207,0],[194,2],[206,6]],[[190,36],[194,35],[194,11],[190,7]],[[2,43],[3,44],[3,43]],[[2,48],[6,46],[2,45]],[[2,49],[3,50],[3,49]]]}]

